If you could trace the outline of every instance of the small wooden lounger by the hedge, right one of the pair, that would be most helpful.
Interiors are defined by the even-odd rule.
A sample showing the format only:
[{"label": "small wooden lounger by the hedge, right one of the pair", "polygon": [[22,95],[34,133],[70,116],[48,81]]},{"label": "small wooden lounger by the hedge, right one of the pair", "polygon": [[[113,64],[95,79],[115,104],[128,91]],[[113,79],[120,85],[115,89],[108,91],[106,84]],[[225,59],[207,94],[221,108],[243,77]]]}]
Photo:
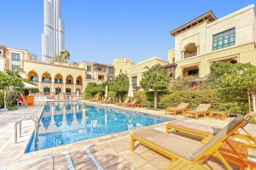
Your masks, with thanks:
[{"label": "small wooden lounger by the hedge, right one of the pair", "polygon": [[184,111],[184,116],[195,116],[198,119],[199,116],[207,116],[211,104],[200,104],[193,111]]}]

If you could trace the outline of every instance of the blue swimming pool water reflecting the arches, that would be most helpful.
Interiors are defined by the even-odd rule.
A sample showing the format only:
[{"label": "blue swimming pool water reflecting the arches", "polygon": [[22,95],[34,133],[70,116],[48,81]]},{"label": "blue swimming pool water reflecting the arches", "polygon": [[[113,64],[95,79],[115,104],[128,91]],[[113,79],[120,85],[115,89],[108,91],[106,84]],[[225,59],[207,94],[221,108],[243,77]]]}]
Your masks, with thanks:
[{"label": "blue swimming pool water reflecting the arches", "polygon": [[36,149],[35,136],[32,134],[26,153],[165,121],[161,117],[77,102],[47,103],[38,122],[38,147]]}]

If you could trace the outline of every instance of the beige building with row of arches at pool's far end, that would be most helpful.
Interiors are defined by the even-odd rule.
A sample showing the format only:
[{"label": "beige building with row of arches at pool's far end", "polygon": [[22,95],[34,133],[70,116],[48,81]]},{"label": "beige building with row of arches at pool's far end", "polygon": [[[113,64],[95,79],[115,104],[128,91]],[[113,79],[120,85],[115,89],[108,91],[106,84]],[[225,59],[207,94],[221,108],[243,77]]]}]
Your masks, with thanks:
[{"label": "beige building with row of arches at pool's far end", "polygon": [[82,94],[88,82],[113,81],[112,65],[100,63],[58,63],[37,61],[36,56],[26,50],[0,47],[0,71],[20,71],[38,84],[40,92]]}]

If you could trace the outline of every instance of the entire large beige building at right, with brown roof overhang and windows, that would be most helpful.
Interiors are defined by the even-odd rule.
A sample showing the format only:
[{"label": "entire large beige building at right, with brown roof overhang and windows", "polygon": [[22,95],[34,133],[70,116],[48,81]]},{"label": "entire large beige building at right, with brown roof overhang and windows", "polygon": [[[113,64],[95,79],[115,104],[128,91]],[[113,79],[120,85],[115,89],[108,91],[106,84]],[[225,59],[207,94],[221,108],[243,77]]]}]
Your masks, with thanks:
[{"label": "entire large beige building at right, with brown roof overhang and windows", "polygon": [[216,61],[256,65],[254,5],[220,19],[208,11],[171,34],[175,48],[169,50],[168,61],[175,64],[175,77],[205,77]]}]

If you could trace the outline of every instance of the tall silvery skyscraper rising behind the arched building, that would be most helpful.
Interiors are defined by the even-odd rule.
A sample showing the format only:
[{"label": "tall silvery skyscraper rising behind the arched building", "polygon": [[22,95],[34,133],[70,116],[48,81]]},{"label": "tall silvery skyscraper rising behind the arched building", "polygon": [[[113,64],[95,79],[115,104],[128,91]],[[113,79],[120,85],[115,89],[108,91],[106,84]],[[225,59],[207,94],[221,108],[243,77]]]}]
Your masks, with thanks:
[{"label": "tall silvery skyscraper rising behind the arched building", "polygon": [[64,23],[61,20],[61,0],[44,0],[44,32],[42,60],[55,59],[65,48]]}]

